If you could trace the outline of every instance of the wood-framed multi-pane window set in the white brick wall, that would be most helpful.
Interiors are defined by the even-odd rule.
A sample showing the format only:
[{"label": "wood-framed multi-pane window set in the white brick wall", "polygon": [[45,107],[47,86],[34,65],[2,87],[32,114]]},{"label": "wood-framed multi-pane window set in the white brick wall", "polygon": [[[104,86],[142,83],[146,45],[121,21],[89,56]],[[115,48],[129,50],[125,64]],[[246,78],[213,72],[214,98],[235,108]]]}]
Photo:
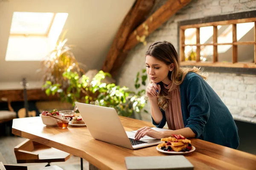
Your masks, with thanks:
[{"label": "wood-framed multi-pane window set in the white brick wall", "polygon": [[204,21],[179,25],[182,66],[256,68],[256,17]]}]

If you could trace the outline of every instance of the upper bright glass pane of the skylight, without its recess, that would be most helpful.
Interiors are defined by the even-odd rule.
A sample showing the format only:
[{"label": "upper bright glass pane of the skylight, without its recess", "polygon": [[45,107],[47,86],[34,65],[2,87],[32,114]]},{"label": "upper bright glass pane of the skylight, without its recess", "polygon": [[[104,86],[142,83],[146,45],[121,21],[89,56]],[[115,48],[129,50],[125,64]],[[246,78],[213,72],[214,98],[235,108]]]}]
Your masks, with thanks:
[{"label": "upper bright glass pane of the skylight, without its recess", "polygon": [[10,35],[48,36],[54,13],[14,12]]}]

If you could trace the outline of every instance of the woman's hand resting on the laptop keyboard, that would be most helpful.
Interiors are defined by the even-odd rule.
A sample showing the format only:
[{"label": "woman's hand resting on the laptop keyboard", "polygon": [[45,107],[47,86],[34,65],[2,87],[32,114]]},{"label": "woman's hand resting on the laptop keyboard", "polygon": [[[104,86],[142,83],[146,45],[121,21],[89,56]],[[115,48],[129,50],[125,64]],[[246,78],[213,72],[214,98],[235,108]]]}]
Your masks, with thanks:
[{"label": "woman's hand resting on the laptop keyboard", "polygon": [[163,138],[163,132],[156,131],[151,129],[150,127],[145,126],[137,130],[134,140],[138,141],[140,140],[140,138],[143,138],[144,136],[149,136],[155,139],[161,139]]}]

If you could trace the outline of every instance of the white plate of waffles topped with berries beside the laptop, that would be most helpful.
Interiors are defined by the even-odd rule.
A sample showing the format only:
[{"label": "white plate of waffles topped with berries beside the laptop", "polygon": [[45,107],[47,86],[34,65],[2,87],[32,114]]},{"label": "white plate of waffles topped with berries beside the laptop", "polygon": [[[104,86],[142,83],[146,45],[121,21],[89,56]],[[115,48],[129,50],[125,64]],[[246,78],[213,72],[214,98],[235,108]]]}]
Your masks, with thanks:
[{"label": "white plate of waffles topped with berries beside the laptop", "polygon": [[174,137],[162,138],[160,143],[157,145],[157,150],[163,153],[169,154],[184,154],[190,153],[195,150],[195,147],[191,145],[191,141],[186,139],[182,135],[172,135]]}]

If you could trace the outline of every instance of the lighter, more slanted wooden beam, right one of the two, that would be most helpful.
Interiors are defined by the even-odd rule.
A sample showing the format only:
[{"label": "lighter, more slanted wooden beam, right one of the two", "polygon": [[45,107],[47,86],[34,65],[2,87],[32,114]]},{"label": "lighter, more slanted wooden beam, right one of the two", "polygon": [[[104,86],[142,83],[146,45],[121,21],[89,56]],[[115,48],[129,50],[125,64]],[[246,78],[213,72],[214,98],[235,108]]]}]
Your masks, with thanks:
[{"label": "lighter, more slanted wooden beam, right one of the two", "polygon": [[[186,6],[191,0],[169,0],[163,6],[161,6],[157,11],[154,12],[150,17],[148,17],[145,22],[140,24],[128,37],[122,52],[116,58],[116,61],[113,64],[113,68],[110,73],[115,76],[119,68],[122,66],[127,53],[135,45],[141,42],[141,38],[144,36],[147,37],[157,28],[159,28],[163,23],[170,19],[177,11]],[[139,40],[140,38],[140,40]]]}]

